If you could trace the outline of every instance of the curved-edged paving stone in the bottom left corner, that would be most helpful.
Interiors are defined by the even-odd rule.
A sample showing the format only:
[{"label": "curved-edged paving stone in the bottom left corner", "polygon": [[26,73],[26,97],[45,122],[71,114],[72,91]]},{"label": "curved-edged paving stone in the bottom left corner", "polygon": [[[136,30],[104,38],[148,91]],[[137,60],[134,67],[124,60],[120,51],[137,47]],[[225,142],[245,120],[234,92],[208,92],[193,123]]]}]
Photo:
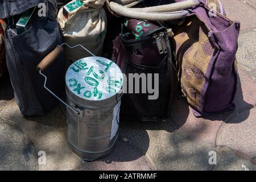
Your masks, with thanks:
[{"label": "curved-edged paving stone in the bottom left corner", "polygon": [[15,125],[0,120],[0,171],[38,169],[37,152]]}]

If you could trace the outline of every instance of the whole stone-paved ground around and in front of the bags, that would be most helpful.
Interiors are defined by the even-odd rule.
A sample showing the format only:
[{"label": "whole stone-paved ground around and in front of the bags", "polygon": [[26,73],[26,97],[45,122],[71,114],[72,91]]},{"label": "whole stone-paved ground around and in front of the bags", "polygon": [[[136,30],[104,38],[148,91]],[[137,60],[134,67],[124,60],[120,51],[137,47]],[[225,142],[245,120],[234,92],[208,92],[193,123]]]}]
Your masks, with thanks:
[{"label": "whole stone-paved ground around and in front of the bags", "polygon": [[[226,14],[241,22],[235,110],[196,118],[177,93],[171,121],[121,121],[112,154],[85,162],[68,147],[61,106],[44,117],[24,117],[6,76],[0,86],[0,170],[256,170],[256,3],[222,2]],[[46,152],[46,165],[39,166],[39,151]],[[217,164],[209,164],[209,154],[217,155]]]}]

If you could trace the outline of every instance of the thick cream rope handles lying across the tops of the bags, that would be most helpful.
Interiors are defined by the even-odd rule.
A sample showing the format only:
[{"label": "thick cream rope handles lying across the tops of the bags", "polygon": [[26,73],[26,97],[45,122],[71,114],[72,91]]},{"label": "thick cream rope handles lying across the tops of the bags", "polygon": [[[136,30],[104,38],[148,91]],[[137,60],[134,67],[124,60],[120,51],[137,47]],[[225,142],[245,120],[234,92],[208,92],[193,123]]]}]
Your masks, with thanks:
[{"label": "thick cream rope handles lying across the tops of the bags", "polygon": [[[133,3],[137,2],[134,0],[122,0],[125,3]],[[199,5],[200,2],[198,0],[186,0],[176,3],[171,3],[170,5],[160,5],[160,6],[152,6],[152,7],[144,7],[144,8],[130,8],[129,6],[122,6],[115,2],[110,2],[110,9],[122,16],[126,16],[128,18],[135,19],[144,19],[144,20],[152,20],[152,21],[165,21],[165,20],[174,20],[184,18],[189,14],[189,11],[182,10],[188,9],[193,6]],[[179,11],[180,10],[180,11]]]}]

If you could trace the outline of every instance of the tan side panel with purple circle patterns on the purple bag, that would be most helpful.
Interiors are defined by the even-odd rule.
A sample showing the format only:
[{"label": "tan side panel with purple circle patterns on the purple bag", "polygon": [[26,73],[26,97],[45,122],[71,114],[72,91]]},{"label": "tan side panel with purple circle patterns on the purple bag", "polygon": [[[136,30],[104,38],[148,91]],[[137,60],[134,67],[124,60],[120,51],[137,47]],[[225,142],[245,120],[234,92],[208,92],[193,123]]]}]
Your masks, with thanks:
[{"label": "tan side panel with purple circle patterns on the purple bag", "polygon": [[214,51],[207,36],[208,30],[196,16],[191,16],[173,31],[172,48],[179,68],[181,90],[188,103],[198,108],[205,73]]}]

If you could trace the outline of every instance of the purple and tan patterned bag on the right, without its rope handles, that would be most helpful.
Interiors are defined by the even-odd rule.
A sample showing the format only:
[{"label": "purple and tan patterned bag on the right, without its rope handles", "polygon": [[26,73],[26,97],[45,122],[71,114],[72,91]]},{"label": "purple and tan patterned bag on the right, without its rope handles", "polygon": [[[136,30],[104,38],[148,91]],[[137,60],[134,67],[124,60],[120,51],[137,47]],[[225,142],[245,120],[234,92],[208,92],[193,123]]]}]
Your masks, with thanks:
[{"label": "purple and tan patterned bag on the right, without its rope handles", "polygon": [[240,32],[239,22],[200,2],[181,25],[172,27],[171,39],[181,90],[197,117],[234,108]]}]

